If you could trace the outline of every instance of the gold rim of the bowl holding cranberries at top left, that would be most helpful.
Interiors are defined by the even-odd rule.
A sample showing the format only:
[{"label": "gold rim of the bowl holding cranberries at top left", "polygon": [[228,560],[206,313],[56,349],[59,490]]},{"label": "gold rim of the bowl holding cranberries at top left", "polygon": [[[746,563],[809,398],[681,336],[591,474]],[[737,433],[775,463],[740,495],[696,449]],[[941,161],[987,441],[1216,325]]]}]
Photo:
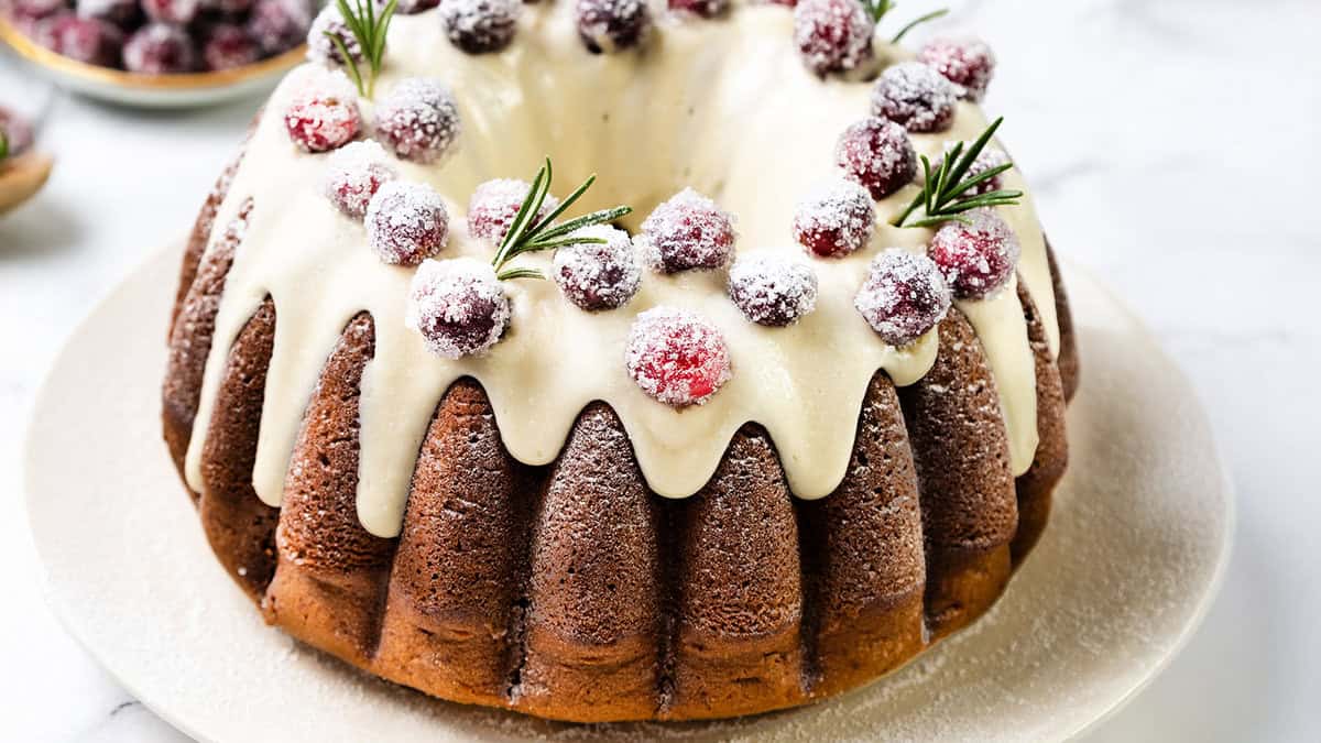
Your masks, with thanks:
[{"label": "gold rim of the bowl holding cranberries at top left", "polygon": [[0,17],[0,41],[4,41],[20,57],[34,65],[89,82],[112,85],[129,90],[207,90],[247,82],[272,73],[284,71],[304,61],[306,45],[299,45],[268,59],[243,65],[232,70],[207,73],[172,73],[144,75],[112,67],[87,65],[70,59],[41,46],[20,32],[9,19]]}]

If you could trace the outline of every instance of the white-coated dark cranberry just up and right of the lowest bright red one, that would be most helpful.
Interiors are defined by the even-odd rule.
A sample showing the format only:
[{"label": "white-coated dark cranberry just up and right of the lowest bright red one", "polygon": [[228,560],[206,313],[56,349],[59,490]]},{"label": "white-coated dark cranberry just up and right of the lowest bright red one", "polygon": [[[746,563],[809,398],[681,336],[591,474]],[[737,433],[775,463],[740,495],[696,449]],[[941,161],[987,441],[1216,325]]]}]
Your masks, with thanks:
[{"label": "white-coated dark cranberry just up and right of the lowest bright red one", "polygon": [[778,255],[740,258],[729,268],[729,299],[758,325],[791,325],[816,307],[816,272]]}]

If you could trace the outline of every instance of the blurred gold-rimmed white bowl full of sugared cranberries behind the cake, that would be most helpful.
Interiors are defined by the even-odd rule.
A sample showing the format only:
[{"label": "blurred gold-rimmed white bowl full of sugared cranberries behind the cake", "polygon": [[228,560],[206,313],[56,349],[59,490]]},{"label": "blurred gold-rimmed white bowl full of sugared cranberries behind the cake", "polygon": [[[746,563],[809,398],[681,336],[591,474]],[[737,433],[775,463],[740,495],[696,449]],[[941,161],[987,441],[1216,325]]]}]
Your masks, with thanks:
[{"label": "blurred gold-rimmed white bowl full of sugared cranberries behind the cake", "polygon": [[254,95],[303,61],[318,0],[0,0],[0,38],[63,87],[186,107]]}]

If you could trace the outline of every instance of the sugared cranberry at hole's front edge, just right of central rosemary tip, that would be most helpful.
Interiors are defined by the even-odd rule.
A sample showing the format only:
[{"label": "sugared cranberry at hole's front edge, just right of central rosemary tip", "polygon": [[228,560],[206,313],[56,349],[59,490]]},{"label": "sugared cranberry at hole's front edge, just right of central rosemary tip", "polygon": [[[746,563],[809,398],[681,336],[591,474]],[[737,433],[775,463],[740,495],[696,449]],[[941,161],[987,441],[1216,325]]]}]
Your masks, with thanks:
[{"label": "sugared cranberry at hole's front edge, just right of central rosemary tip", "polygon": [[647,264],[662,274],[724,268],[734,254],[734,222],[715,201],[686,188],[643,219],[637,241]]}]

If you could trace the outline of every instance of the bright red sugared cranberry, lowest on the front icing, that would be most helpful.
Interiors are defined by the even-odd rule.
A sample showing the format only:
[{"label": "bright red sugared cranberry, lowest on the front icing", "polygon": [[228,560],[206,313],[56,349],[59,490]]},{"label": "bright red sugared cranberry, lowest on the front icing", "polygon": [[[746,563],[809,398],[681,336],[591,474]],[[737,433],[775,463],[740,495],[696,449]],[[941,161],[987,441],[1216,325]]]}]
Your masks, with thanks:
[{"label": "bright red sugared cranberry, lowest on the front icing", "polygon": [[707,402],[732,377],[720,331],[692,312],[670,307],[638,315],[625,362],[642,391],[674,407]]}]

